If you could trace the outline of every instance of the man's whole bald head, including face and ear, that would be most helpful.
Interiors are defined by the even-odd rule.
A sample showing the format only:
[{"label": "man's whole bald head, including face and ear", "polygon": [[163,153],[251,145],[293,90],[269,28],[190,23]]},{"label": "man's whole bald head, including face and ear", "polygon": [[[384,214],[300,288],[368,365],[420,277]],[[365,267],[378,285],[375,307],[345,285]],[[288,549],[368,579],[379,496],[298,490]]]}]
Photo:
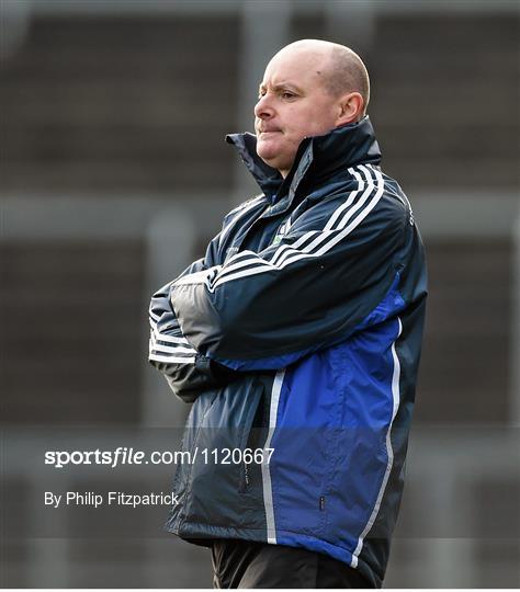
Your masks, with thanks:
[{"label": "man's whole bald head, including face and ear", "polygon": [[369,103],[366,68],[348,47],[302,39],[268,64],[255,105],[257,155],[283,177],[304,138],[359,122]]}]

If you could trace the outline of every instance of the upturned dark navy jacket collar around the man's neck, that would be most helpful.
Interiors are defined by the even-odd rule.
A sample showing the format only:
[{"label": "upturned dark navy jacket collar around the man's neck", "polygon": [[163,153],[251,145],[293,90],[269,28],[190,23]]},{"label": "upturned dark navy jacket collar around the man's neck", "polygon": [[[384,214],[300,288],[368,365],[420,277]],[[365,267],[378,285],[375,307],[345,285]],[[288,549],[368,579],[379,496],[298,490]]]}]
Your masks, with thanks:
[{"label": "upturned dark navy jacket collar around the man's neck", "polygon": [[361,162],[372,164],[381,162],[380,147],[369,116],[357,123],[337,127],[324,136],[302,140],[293,167],[285,179],[257,155],[257,136],[253,134],[248,132],[229,134],[226,140],[237,148],[249,172],[271,203],[284,195],[289,195],[291,202],[304,180],[307,189],[312,191],[348,167]]}]

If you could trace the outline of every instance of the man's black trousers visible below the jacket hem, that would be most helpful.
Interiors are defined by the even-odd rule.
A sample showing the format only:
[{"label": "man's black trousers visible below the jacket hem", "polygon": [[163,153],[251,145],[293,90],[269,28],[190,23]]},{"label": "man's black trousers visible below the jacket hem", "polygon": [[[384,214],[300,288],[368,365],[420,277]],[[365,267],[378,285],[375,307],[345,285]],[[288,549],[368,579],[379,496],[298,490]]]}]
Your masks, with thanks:
[{"label": "man's black trousers visible below the jacket hem", "polygon": [[371,588],[358,570],[307,549],[215,540],[214,588]]}]

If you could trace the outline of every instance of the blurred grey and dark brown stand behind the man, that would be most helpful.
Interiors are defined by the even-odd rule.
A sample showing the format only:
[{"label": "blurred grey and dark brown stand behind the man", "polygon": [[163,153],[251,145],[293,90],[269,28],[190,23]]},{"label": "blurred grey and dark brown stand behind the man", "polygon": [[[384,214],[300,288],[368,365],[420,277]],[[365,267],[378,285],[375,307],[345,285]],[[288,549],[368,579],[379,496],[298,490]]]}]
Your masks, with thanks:
[{"label": "blurred grey and dark brown stand behind the man", "polygon": [[518,3],[0,0],[0,583],[211,585],[166,509],[91,531],[95,511],[49,514],[42,451],[177,442],[186,408],[147,365],[149,296],[258,193],[224,136],[252,129],[269,58],[318,37],[368,65],[383,167],[429,258],[386,585],[519,587]]}]

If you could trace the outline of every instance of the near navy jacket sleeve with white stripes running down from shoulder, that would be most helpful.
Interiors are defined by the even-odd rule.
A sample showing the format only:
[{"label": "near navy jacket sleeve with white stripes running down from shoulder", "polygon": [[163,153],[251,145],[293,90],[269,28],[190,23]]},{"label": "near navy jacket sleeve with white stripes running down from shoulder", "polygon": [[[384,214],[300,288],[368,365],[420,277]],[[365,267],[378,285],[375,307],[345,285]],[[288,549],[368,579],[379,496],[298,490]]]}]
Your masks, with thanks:
[{"label": "near navy jacket sleeve with white stripes running down from shoulder", "polygon": [[190,346],[239,371],[276,369],[347,339],[394,285],[406,206],[377,184],[317,202],[282,240],[186,274],[170,301]]}]

